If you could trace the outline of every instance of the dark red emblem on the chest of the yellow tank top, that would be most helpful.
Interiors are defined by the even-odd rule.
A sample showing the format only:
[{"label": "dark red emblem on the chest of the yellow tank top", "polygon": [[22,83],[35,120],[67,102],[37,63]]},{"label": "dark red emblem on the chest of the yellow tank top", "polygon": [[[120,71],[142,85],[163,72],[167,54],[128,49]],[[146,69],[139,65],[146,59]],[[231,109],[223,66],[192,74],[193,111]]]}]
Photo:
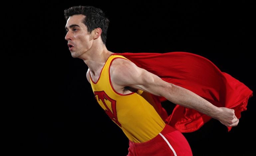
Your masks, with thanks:
[{"label": "dark red emblem on the chest of the yellow tank top", "polygon": [[[116,101],[111,99],[104,91],[95,91],[94,92],[95,98],[96,95],[98,96],[98,99],[96,98],[96,100],[101,100],[103,105],[106,107],[106,114],[116,123],[118,124],[120,127],[122,127],[121,123],[118,121],[117,119],[117,112],[116,112]],[[111,102],[111,108],[112,111],[108,108],[108,106],[106,105],[105,100],[108,100]]]}]

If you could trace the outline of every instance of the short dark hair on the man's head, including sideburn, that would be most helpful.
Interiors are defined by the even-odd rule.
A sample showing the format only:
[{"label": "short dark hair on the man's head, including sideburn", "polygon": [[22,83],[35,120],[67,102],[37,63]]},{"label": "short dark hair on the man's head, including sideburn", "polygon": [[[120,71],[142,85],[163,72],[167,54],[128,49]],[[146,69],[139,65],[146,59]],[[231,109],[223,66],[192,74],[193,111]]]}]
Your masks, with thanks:
[{"label": "short dark hair on the man's head, including sideburn", "polygon": [[102,10],[93,6],[74,6],[64,10],[64,15],[66,20],[73,15],[84,15],[83,23],[87,27],[87,31],[91,33],[94,29],[100,28],[102,42],[106,44],[109,20]]}]

